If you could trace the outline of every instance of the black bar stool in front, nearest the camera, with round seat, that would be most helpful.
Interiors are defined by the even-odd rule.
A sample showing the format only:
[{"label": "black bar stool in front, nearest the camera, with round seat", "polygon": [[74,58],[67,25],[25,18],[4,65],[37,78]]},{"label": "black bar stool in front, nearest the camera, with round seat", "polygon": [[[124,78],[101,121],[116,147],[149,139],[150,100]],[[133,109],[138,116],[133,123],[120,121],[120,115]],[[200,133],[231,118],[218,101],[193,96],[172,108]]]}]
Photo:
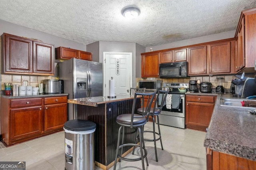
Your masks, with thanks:
[{"label": "black bar stool in front, nearest the camera, with round seat", "polygon": [[[116,169],[117,158],[120,158],[120,159],[126,160],[126,161],[141,160],[143,170],[145,170],[144,158],[146,158],[146,164],[148,166],[147,150],[145,148],[142,126],[145,125],[147,122],[147,119],[145,116],[146,116],[146,114],[149,115],[149,113],[150,113],[150,108],[151,108],[151,105],[155,98],[155,95],[156,95],[156,92],[152,92],[152,93],[137,93],[136,92],[134,94],[134,100],[133,100],[133,104],[132,104],[132,113],[131,114],[122,114],[122,115],[118,115],[116,117],[116,123],[118,123],[121,126],[118,130],[118,140],[117,140],[117,147],[116,147],[116,158],[115,158],[114,170]],[[141,96],[141,98],[142,98],[142,106],[143,106],[142,113],[143,114],[136,114],[137,111],[135,109],[136,109],[137,96]],[[147,101],[144,100],[145,97],[148,98]],[[140,98],[138,98],[138,100],[140,100]],[[130,127],[130,128],[136,127],[137,128],[140,145],[135,144],[135,143],[124,144],[124,137],[125,137],[124,136],[124,128],[125,127]],[[121,131],[122,131],[122,144],[120,145]],[[123,147],[126,147],[126,146],[140,147],[140,158],[132,159],[132,158],[122,157]],[[121,152],[119,152],[120,149],[121,149]],[[144,154],[143,154],[143,150],[144,150]]]}]

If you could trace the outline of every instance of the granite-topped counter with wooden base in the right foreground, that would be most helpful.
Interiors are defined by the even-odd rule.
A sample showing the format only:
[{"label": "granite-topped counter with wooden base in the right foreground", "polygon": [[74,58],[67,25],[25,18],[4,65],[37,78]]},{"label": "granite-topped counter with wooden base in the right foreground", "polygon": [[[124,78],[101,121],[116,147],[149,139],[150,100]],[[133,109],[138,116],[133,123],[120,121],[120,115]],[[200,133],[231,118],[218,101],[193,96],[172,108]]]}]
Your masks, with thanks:
[{"label": "granite-topped counter with wooden base in the right foreground", "polygon": [[220,105],[218,94],[204,147],[207,149],[207,169],[256,169],[256,115],[248,113],[255,108]]}]

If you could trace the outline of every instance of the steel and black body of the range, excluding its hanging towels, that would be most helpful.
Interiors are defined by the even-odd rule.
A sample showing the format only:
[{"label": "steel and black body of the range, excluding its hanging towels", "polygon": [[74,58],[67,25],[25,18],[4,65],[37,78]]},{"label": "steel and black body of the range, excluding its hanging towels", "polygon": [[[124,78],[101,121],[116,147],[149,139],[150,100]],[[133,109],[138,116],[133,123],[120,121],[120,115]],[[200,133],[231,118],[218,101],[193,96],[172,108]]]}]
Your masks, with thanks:
[{"label": "steel and black body of the range, excluding its hanging towels", "polygon": [[175,94],[180,96],[181,102],[178,109],[168,109],[166,105],[163,106],[161,114],[159,115],[159,122],[161,125],[178,127],[185,129],[185,93],[179,92],[178,88],[186,88],[188,90],[188,83],[171,83],[169,87],[172,91],[168,94]]}]

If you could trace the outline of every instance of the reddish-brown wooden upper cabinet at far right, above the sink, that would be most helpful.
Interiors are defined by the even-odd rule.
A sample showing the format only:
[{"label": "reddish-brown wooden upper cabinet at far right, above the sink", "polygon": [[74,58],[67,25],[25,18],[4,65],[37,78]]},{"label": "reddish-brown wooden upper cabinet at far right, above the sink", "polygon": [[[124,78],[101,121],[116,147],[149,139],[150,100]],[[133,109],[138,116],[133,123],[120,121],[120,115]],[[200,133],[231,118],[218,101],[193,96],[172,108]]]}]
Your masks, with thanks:
[{"label": "reddish-brown wooden upper cabinet at far right, above the sink", "polygon": [[254,72],[256,60],[256,8],[242,11],[236,29],[236,72]]}]

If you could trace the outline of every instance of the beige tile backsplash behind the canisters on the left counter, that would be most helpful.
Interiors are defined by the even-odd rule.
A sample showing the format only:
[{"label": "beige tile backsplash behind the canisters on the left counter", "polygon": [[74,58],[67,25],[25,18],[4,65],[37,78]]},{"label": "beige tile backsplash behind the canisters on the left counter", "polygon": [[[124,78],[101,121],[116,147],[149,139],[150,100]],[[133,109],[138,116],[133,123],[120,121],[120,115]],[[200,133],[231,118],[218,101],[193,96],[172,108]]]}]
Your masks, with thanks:
[{"label": "beige tile backsplash behind the canisters on the left counter", "polygon": [[1,90],[4,90],[4,83],[18,84],[19,86],[22,86],[23,81],[28,81],[28,86],[38,87],[38,84],[42,83],[45,79],[58,80],[58,77],[1,74]]}]

